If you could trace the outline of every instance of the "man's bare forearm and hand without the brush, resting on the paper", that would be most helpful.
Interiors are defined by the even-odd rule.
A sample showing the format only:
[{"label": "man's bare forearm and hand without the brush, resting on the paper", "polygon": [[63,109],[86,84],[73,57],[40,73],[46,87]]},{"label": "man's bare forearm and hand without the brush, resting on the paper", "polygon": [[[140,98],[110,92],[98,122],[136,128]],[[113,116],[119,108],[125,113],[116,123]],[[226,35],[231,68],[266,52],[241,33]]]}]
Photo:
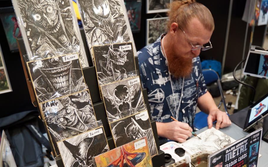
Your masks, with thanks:
[{"label": "man's bare forearm and hand without the brush, resting on the paper", "polygon": [[204,113],[209,114],[208,126],[212,127],[212,123],[217,120],[216,129],[224,128],[231,125],[229,116],[218,109],[211,94],[207,91],[204,95],[200,96],[197,101],[198,108]]}]

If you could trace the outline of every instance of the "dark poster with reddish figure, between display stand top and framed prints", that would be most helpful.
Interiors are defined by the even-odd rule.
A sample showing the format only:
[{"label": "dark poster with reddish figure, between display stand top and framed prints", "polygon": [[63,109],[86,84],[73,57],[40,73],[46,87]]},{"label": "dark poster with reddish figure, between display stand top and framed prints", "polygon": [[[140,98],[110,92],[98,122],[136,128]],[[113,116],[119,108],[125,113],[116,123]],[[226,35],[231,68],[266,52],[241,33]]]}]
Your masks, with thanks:
[{"label": "dark poster with reddish figure, between display stand top and framed prints", "polygon": [[140,31],[141,0],[125,0],[131,31]]}]

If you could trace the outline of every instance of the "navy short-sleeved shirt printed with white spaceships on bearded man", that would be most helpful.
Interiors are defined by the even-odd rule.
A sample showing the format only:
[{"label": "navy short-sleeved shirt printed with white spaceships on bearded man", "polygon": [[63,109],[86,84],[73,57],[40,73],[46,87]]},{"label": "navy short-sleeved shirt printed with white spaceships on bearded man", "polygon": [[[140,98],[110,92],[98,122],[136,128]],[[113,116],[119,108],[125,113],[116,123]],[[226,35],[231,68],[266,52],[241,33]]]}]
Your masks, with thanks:
[{"label": "navy short-sleeved shirt printed with white spaceships on bearded man", "polygon": [[[171,122],[172,116],[193,128],[197,99],[207,92],[200,58],[192,59],[191,77],[185,77],[184,82],[183,77],[176,79],[169,75],[161,49],[161,36],[138,51],[138,60],[142,86],[148,91],[152,118],[158,122]],[[164,142],[164,138],[159,140],[160,143]]]}]

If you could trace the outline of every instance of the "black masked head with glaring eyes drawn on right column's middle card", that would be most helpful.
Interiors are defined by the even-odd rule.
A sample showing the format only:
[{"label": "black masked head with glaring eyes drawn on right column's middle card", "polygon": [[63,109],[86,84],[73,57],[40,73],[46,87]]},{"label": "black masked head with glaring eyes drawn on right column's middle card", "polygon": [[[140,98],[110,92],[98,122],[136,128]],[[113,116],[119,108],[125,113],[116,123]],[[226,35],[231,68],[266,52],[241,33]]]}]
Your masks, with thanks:
[{"label": "black masked head with glaring eyes drawn on right column's middle card", "polygon": [[118,113],[123,114],[131,109],[131,93],[127,86],[118,85],[113,92],[114,105]]}]

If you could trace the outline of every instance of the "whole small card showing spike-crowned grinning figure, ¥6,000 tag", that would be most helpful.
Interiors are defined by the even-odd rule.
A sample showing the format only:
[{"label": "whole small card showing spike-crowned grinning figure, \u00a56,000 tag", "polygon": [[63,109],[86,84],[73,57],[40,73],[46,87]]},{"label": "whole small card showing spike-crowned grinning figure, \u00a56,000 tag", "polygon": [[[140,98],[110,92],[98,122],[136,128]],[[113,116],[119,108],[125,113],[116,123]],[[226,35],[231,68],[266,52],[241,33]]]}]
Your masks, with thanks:
[{"label": "whole small card showing spike-crowned grinning figure, \u00a56,000 tag", "polygon": [[125,73],[136,70],[131,42],[93,46],[93,54],[98,80],[126,79],[128,75]]}]

